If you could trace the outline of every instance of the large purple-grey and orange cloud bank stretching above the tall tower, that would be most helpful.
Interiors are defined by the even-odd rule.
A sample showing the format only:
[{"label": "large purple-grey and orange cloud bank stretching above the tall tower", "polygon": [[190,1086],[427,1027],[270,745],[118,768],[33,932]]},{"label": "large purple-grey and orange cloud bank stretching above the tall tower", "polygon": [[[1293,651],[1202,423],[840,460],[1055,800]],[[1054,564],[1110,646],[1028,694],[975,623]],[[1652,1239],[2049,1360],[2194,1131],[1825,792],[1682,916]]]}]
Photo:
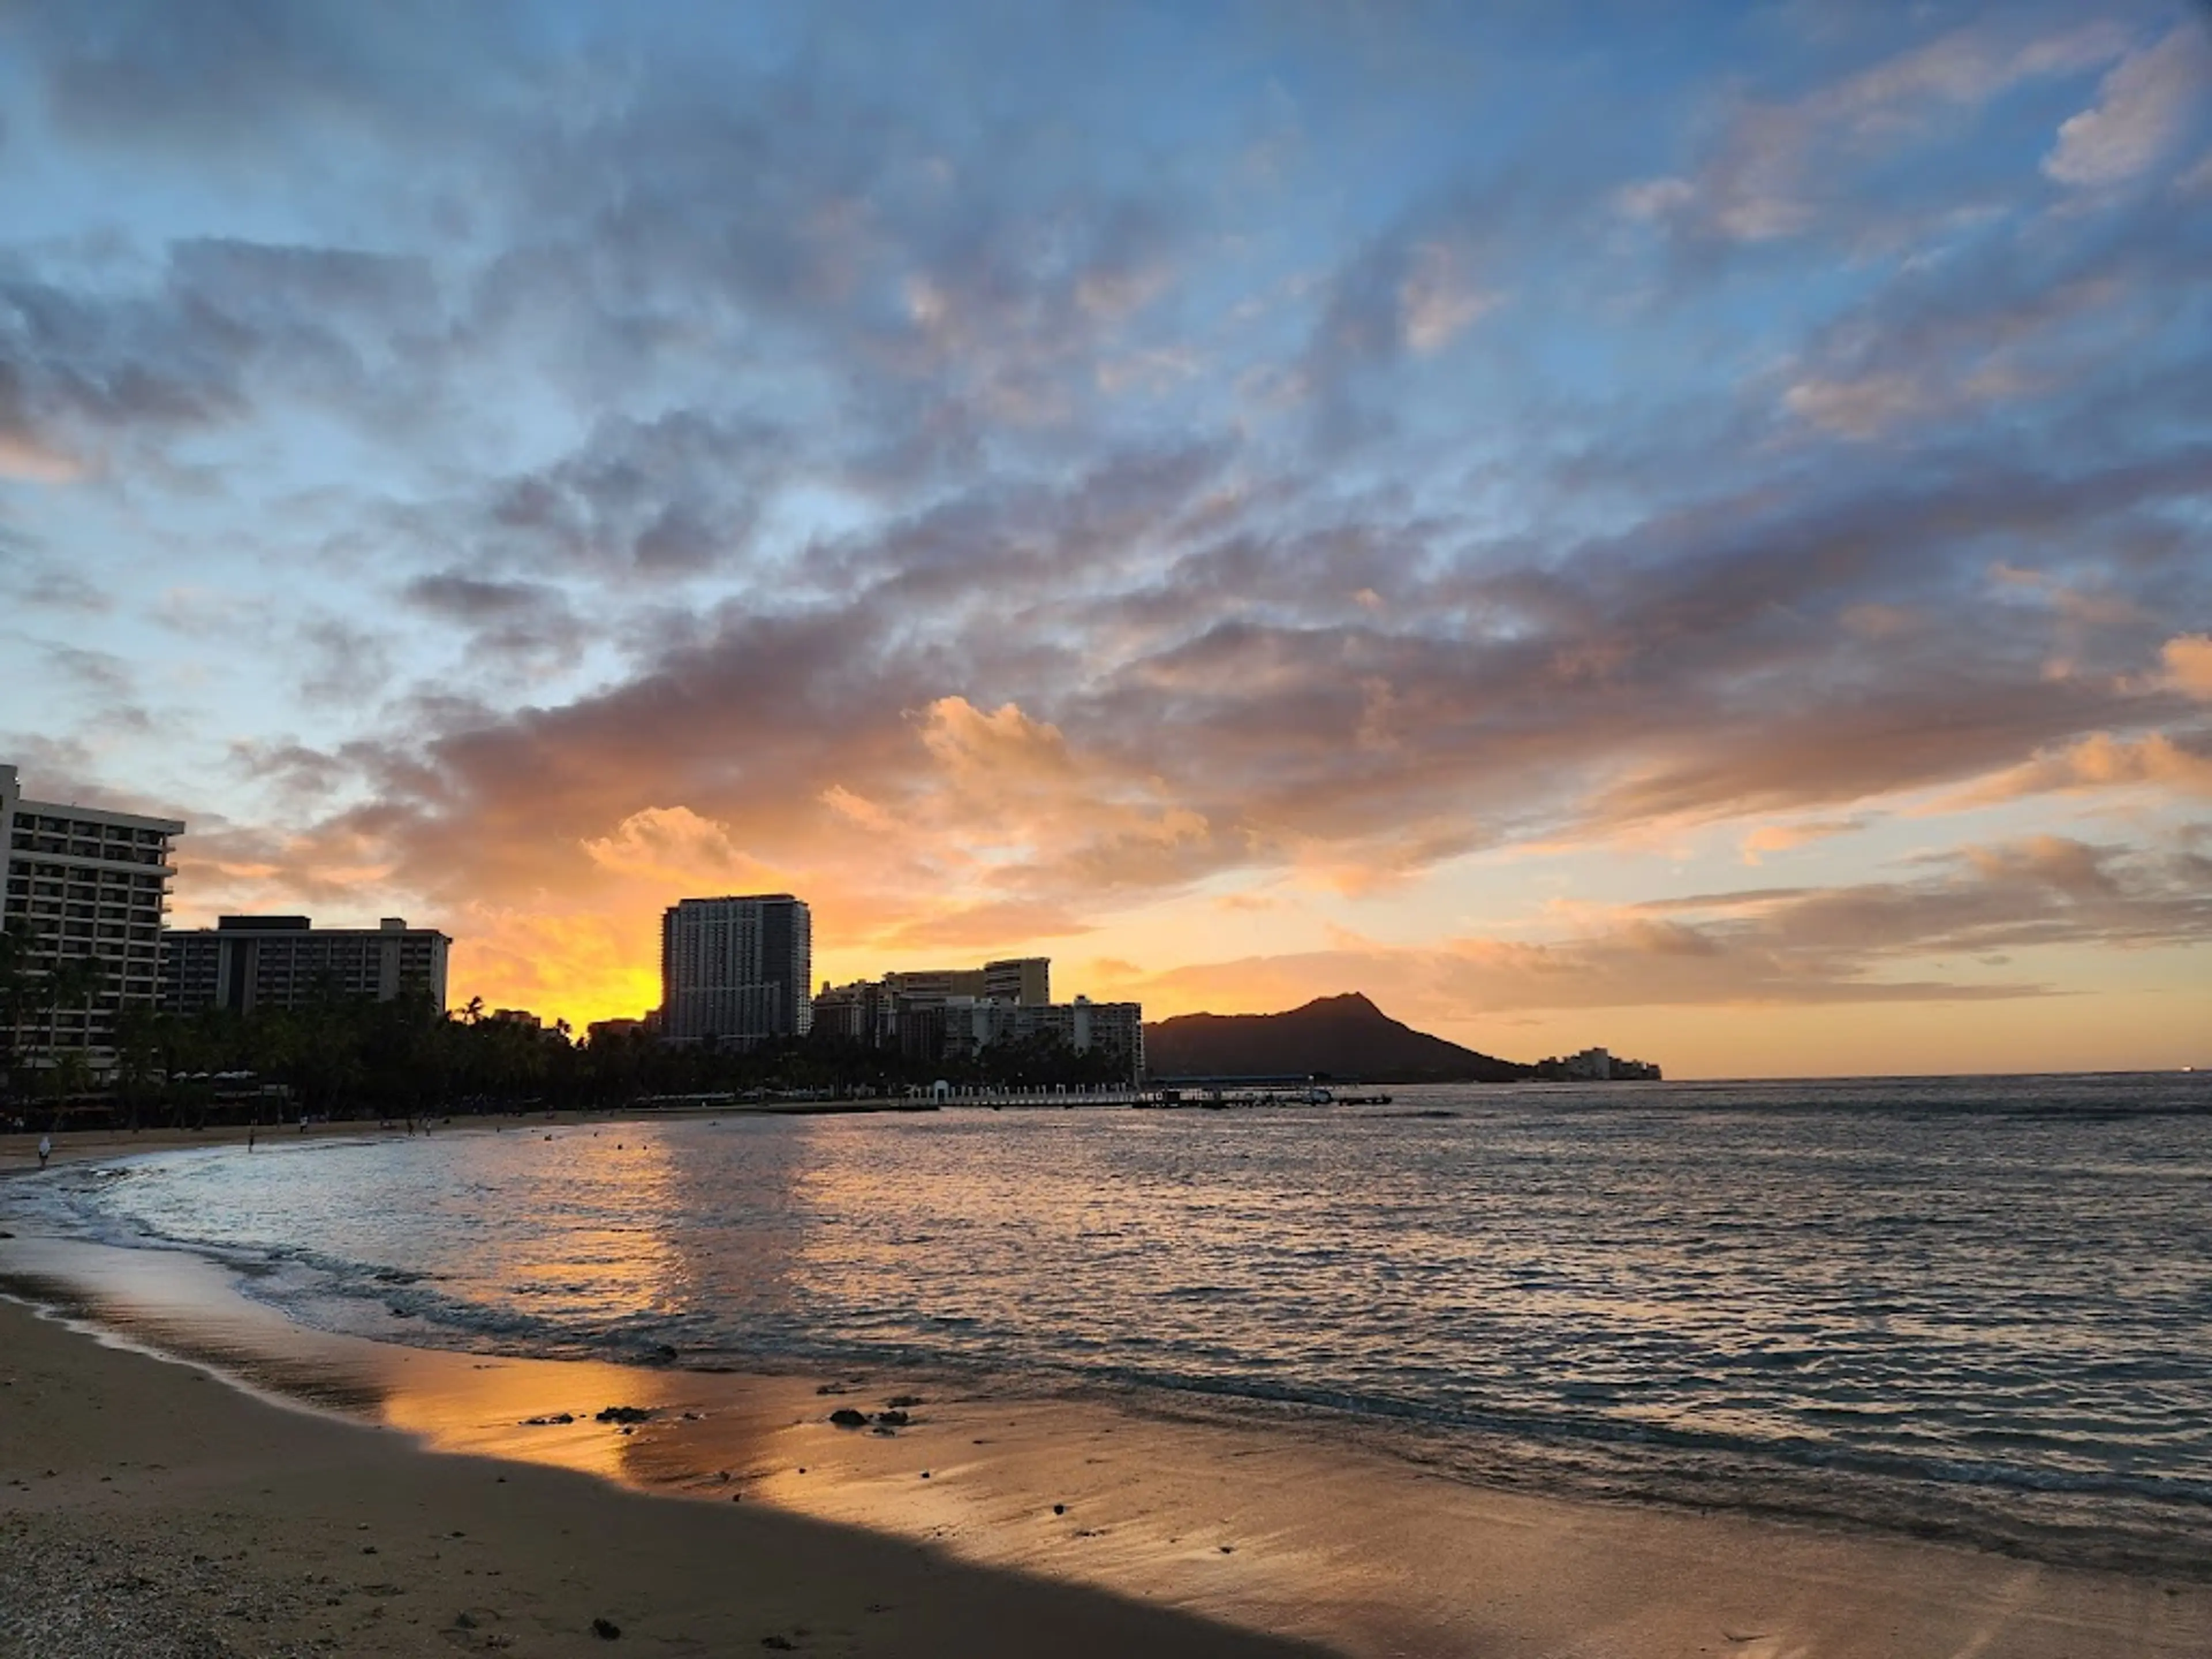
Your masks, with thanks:
[{"label": "large purple-grey and orange cloud bank stretching above the tall tower", "polygon": [[[2157,650],[2148,617],[2084,644],[2108,672],[2051,679],[2066,617],[1993,611],[1980,562],[1929,549],[2079,542],[2205,476],[2190,456],[1920,489],[1840,476],[1427,571],[1418,520],[1128,557],[1172,540],[1210,471],[1106,462],[1042,498],[982,491],[821,549],[836,599],[675,617],[568,701],[418,706],[414,734],[347,752],[374,805],[327,830],[440,902],[653,909],[686,883],[772,885],[816,896],[825,938],[922,949],[938,918],[1018,947],[987,936],[1097,927],[1230,872],[1374,894],[1482,847],[1818,814],[2152,708],[2163,692],[2126,672]],[[1356,599],[1374,582],[1387,613]],[[473,628],[542,602],[456,571],[409,595]],[[1929,622],[1867,626],[1869,604]],[[657,816],[675,803],[684,825]],[[1860,816],[1754,827],[1747,849]]]}]

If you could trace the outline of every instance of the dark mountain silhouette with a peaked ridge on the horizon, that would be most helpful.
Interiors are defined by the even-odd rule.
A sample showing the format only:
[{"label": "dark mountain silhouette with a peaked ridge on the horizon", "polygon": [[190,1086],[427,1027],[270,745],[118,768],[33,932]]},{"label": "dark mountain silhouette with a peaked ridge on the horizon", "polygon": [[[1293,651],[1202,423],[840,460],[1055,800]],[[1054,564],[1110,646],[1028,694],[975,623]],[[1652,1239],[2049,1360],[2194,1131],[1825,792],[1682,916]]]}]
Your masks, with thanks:
[{"label": "dark mountain silhouette with a peaked ridge on the horizon", "polygon": [[1144,1029],[1155,1077],[1318,1075],[1371,1084],[1504,1084],[1528,1066],[1391,1020],[1358,991],[1285,1013],[1181,1013]]}]

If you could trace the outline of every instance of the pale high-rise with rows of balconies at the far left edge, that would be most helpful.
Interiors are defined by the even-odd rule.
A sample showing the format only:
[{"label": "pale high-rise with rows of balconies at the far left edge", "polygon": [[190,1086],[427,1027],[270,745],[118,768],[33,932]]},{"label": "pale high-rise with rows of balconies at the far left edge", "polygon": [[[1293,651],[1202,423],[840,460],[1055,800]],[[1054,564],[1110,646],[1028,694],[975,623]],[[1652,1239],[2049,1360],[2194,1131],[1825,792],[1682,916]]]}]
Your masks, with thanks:
[{"label": "pale high-rise with rows of balconies at the far left edge", "polygon": [[95,1068],[115,1060],[115,1020],[153,1009],[161,991],[161,916],[168,909],[175,818],[27,801],[13,765],[0,765],[0,931],[38,980],[77,962],[97,989],[38,1009],[9,1035],[18,1055],[77,1051]]}]

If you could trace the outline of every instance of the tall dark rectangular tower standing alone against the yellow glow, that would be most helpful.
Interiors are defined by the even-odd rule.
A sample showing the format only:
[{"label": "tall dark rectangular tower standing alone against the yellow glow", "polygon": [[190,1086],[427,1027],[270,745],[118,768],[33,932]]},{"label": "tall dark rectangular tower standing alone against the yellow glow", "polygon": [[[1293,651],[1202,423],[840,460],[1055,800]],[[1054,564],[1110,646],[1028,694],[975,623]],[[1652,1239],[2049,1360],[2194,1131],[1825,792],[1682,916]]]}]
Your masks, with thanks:
[{"label": "tall dark rectangular tower standing alone against the yellow glow", "polygon": [[661,916],[661,1035],[752,1048],[814,1029],[814,918],[790,894],[684,898]]}]

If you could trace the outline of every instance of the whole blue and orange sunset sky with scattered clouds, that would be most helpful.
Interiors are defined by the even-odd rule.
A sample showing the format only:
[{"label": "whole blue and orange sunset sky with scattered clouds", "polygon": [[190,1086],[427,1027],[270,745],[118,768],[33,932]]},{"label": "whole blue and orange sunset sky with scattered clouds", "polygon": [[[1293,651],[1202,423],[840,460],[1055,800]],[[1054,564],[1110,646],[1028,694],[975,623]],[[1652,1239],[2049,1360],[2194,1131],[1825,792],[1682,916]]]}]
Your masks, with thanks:
[{"label": "whole blue and orange sunset sky with scattered clouds", "polygon": [[2212,1064],[2183,0],[0,4],[0,761],[177,925]]}]

